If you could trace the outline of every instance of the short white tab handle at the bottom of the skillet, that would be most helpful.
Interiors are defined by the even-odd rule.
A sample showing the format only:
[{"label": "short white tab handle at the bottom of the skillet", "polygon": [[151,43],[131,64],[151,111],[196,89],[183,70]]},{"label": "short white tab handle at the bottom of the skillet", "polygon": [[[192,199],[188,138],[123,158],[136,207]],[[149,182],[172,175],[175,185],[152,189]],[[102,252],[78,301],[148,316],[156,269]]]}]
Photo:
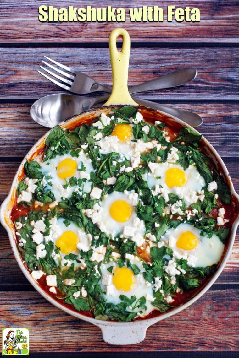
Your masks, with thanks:
[{"label": "short white tab handle at the bottom of the skillet", "polygon": [[127,345],[137,344],[144,340],[148,325],[132,324],[131,325],[104,325],[97,324],[101,329],[103,339],[106,343]]}]

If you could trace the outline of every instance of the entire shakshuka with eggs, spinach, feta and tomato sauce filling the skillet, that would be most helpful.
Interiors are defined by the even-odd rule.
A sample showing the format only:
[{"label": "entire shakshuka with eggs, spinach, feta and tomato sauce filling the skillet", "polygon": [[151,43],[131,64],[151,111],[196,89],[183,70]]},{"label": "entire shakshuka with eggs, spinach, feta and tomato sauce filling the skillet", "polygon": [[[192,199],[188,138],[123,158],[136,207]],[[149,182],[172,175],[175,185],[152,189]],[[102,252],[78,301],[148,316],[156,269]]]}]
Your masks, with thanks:
[{"label": "entire shakshuka with eggs, spinach, feta and tomato sauce filling the skillet", "polygon": [[201,135],[142,113],[115,107],[54,127],[25,161],[11,211],[33,279],[96,319],[185,303],[216,271],[230,233],[230,190]]}]

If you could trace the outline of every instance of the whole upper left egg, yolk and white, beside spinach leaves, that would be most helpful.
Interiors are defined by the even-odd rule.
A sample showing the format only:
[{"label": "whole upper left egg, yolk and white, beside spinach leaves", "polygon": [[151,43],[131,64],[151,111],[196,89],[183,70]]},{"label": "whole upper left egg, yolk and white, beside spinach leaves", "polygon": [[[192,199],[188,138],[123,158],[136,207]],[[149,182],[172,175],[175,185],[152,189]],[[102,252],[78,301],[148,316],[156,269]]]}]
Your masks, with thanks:
[{"label": "whole upper left egg, yolk and white, beside spinach leaves", "polygon": [[[81,170],[81,166],[85,166],[85,171]],[[86,178],[86,183],[82,183],[80,190],[88,193],[91,190],[90,172],[94,171],[91,164],[91,160],[87,158],[83,151],[80,152],[78,158],[72,157],[70,153],[56,158],[50,159],[41,163],[41,171],[46,176],[50,176],[52,186],[47,183],[46,185],[52,190],[57,202],[61,201],[61,198],[70,198],[72,192],[75,190],[75,186],[63,188],[66,184],[66,180],[69,180],[72,176],[77,179]]]}]

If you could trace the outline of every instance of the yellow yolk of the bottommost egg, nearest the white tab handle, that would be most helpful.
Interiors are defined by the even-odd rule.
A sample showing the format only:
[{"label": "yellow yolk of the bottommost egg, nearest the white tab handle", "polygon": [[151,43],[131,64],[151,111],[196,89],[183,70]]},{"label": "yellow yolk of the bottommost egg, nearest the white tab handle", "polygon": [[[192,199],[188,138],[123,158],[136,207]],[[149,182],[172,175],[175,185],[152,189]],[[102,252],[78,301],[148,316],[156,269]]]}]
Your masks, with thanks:
[{"label": "yellow yolk of the bottommost egg, nearest the white tab handle", "polygon": [[129,291],[135,285],[134,272],[128,267],[116,267],[113,275],[113,284],[117,290]]}]

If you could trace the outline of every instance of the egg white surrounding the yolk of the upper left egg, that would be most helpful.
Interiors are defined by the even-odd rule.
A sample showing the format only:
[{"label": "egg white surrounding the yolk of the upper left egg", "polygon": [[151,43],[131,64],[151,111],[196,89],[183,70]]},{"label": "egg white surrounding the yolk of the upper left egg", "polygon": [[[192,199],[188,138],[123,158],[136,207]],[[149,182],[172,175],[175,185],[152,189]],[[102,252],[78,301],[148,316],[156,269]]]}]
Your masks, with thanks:
[{"label": "egg white surrounding the yolk of the upper left egg", "polygon": [[[70,153],[67,153],[64,155],[58,155],[58,156],[56,156],[56,158],[49,159],[46,162],[42,163],[41,164],[42,173],[45,174],[46,176],[49,175],[52,178],[50,180],[52,183],[52,186],[49,185],[49,183],[47,183],[47,187],[53,192],[53,194],[58,202],[61,200],[62,197],[66,198],[66,199],[70,198],[73,191],[76,189],[76,186],[67,187],[66,189],[64,189],[63,185],[66,184],[66,180],[59,178],[57,175],[57,166],[64,159],[75,160],[77,163],[77,169],[80,169],[81,164],[83,164],[86,168],[85,173],[91,173],[92,171],[94,171],[91,161],[87,158],[87,156],[83,152],[83,150],[80,152],[80,155],[78,156],[78,158],[72,157]],[[49,163],[49,164],[47,165],[47,163]],[[80,178],[80,171],[77,170],[76,174],[74,176],[77,179]],[[67,178],[67,179],[70,179],[70,178]],[[84,192],[89,193],[91,190],[91,184],[92,184],[92,182],[90,182],[89,180],[86,180],[86,183],[82,183],[79,190],[80,191],[83,190]]]}]

